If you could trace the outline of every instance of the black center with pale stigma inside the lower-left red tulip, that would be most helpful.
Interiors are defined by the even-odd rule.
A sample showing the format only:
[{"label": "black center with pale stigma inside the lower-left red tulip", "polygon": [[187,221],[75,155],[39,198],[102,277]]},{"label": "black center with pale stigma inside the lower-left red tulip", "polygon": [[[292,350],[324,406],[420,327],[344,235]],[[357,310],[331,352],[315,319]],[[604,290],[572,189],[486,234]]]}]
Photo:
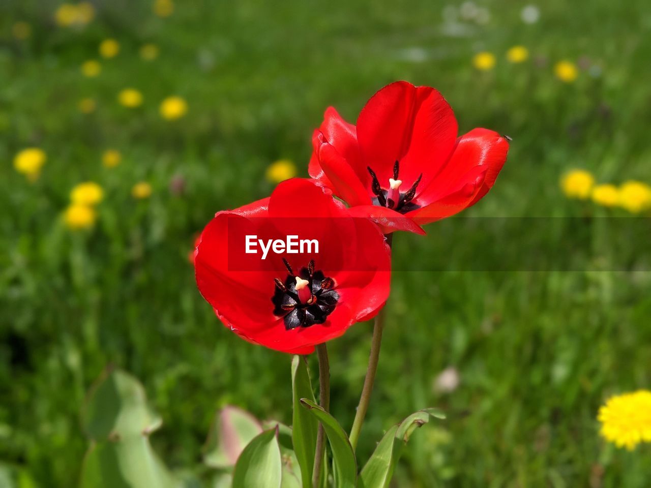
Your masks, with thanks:
[{"label": "black center with pale stigma inside the lower-left red tulip", "polygon": [[285,329],[288,331],[296,327],[324,323],[339,301],[339,293],[333,290],[335,280],[326,277],[323,271],[315,271],[314,260],[311,260],[307,267],[301,268],[298,275],[294,275],[286,260],[283,259],[283,262],[288,275],[284,281],[280,278],[274,280],[275,290],[271,297],[273,314],[283,317]]}]

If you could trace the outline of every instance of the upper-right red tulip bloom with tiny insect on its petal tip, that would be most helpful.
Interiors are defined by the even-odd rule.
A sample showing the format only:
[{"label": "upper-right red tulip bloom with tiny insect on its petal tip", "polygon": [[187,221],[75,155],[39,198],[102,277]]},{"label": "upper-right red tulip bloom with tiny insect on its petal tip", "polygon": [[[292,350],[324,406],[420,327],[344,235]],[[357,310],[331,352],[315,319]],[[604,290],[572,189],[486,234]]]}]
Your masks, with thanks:
[{"label": "upper-right red tulip bloom with tiny insect on its petal tip", "polygon": [[357,126],[333,108],[312,137],[309,173],[383,232],[409,230],[484,197],[506,161],[508,139],[488,129],[457,137],[437,90],[396,81],[362,109]]}]

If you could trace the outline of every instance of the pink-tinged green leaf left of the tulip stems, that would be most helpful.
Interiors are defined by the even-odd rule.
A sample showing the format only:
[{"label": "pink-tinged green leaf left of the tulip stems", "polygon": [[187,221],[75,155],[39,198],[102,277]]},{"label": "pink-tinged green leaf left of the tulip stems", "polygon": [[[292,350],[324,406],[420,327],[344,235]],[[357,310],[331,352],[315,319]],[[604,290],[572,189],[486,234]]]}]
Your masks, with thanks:
[{"label": "pink-tinged green leaf left of the tulip stems", "polygon": [[260,422],[250,413],[227,405],[215,415],[204,446],[204,463],[211,468],[230,468],[245,446],[262,432]]}]

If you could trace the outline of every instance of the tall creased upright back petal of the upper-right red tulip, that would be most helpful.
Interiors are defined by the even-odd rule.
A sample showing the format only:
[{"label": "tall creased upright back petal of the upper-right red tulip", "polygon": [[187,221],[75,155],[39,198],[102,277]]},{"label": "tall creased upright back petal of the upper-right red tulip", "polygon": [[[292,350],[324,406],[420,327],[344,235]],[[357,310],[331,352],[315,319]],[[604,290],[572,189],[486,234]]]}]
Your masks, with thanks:
[{"label": "tall creased upright back petal of the upper-right red tulip", "polygon": [[377,92],[357,119],[363,164],[385,185],[400,161],[400,180],[411,185],[422,173],[429,183],[454,148],[457,124],[450,105],[434,88],[396,81]]}]

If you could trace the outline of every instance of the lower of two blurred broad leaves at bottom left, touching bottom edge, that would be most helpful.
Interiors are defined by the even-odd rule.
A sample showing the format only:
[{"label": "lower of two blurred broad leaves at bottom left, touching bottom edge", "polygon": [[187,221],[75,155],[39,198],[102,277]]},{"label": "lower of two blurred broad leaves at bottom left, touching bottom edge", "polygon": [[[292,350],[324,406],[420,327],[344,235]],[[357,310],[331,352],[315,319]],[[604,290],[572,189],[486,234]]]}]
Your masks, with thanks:
[{"label": "lower of two blurred broad leaves at bottom left, touching bottom edge", "polygon": [[145,435],[91,446],[81,471],[81,488],[178,488]]}]

